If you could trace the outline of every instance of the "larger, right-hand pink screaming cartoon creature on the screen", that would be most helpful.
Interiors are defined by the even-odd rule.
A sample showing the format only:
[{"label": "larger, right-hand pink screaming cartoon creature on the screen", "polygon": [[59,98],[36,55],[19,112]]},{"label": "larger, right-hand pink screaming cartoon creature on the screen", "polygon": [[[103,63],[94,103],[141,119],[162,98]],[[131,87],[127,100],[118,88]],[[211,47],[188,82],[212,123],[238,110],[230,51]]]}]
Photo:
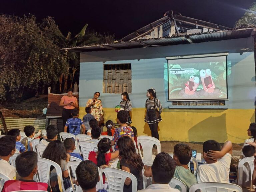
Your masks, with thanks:
[{"label": "larger, right-hand pink screaming cartoon creature on the screen", "polygon": [[212,80],[211,70],[210,69],[202,69],[200,71],[200,77],[203,84],[204,91],[207,93],[213,93],[215,89],[215,84]]}]

